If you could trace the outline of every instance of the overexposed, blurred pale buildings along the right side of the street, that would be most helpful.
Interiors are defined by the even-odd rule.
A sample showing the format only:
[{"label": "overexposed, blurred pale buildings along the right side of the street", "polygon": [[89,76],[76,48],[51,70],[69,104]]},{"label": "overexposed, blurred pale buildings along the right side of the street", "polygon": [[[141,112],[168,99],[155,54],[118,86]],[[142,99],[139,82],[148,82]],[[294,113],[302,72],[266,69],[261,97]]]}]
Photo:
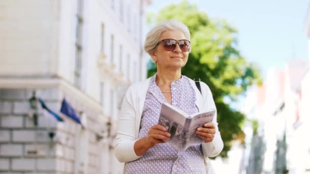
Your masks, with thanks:
[{"label": "overexposed, blurred pale buildings along the right side of the street", "polygon": [[[305,33],[309,40],[309,10]],[[217,171],[227,171],[221,166],[229,161],[233,173],[310,173],[309,62],[293,56],[283,69],[270,67],[263,84],[249,89],[242,108],[247,117],[244,147],[236,143],[228,160],[216,159]],[[237,168],[231,167],[237,166],[235,160]]]}]

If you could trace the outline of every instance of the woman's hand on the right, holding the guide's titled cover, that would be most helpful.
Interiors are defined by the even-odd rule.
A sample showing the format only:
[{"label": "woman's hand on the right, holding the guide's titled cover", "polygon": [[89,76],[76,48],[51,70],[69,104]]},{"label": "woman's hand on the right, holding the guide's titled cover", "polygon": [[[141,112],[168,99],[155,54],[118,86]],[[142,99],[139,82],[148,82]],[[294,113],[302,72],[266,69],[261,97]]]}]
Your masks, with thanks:
[{"label": "woman's hand on the right, holding the guide's titled cover", "polygon": [[196,134],[199,138],[202,138],[204,142],[211,142],[214,139],[215,126],[213,123],[205,123],[203,127],[197,128]]}]

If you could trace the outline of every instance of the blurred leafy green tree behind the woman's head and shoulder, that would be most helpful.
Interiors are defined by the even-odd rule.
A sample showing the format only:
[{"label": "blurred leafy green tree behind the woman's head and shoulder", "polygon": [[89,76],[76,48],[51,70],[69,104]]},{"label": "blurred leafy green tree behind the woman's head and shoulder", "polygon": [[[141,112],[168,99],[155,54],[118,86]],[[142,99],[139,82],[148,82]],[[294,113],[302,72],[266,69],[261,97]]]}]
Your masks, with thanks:
[{"label": "blurred leafy green tree behind the woman's head and shoulder", "polygon": [[[188,2],[169,5],[158,15],[148,15],[148,21],[177,19],[189,27],[192,51],[182,74],[189,78],[199,77],[209,85],[218,112],[218,123],[224,149],[221,157],[227,157],[231,142],[244,143],[241,126],[244,114],[224,102],[224,98],[236,102],[248,86],[261,81],[259,70],[248,63],[237,47],[237,29],[225,20],[214,20]],[[156,66],[148,62],[148,77],[156,73]]]}]

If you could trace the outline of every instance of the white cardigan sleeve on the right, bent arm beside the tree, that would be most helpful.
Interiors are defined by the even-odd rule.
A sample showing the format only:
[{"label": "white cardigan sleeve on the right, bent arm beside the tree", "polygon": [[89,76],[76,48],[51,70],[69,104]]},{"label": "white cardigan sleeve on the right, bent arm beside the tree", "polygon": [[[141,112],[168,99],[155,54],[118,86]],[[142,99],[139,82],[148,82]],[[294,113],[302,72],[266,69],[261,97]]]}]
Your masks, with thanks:
[{"label": "white cardigan sleeve on the right, bent arm beside the tree", "polygon": [[[212,96],[209,86],[206,85],[204,82],[200,82],[200,84],[202,87],[201,91],[202,91],[202,98],[203,98],[203,107],[207,110],[216,109],[213,96]],[[215,131],[216,131],[213,141],[201,143],[203,154],[207,157],[217,156],[218,154],[221,153],[224,147],[223,140],[219,132],[218,123],[217,123],[217,111],[215,113],[215,116],[212,122],[215,126]]]}]

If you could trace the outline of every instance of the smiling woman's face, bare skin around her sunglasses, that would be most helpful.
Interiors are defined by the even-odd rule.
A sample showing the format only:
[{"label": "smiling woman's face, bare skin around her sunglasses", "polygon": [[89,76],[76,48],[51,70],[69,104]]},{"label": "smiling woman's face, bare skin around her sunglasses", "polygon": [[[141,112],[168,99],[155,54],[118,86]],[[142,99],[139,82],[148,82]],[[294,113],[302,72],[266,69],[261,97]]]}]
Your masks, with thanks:
[{"label": "smiling woman's face, bare skin around her sunglasses", "polygon": [[[160,40],[163,39],[174,39],[183,40],[186,39],[183,32],[176,30],[168,30],[164,32]],[[155,51],[151,53],[151,57],[154,62],[156,62],[159,68],[169,68],[169,69],[180,69],[184,67],[188,60],[189,51],[182,51],[178,44],[172,51],[167,51],[164,49],[164,43],[160,43]]]}]

